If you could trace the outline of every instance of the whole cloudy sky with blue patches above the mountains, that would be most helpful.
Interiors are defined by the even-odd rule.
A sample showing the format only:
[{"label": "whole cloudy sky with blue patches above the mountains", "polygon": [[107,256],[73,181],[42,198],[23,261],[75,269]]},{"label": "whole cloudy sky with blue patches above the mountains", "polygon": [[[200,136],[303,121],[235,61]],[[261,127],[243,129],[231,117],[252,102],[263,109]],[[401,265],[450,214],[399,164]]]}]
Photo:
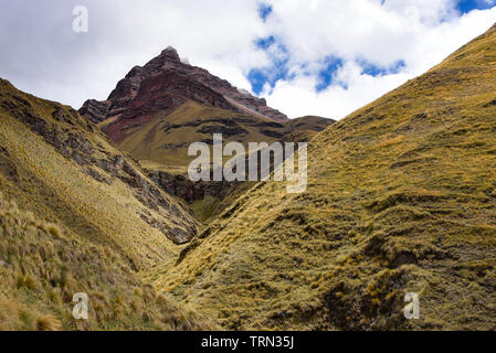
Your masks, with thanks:
[{"label": "whole cloudy sky with blue patches above the mountains", "polygon": [[76,109],[171,45],[291,118],[341,119],[496,22],[496,0],[0,1],[0,77]]}]

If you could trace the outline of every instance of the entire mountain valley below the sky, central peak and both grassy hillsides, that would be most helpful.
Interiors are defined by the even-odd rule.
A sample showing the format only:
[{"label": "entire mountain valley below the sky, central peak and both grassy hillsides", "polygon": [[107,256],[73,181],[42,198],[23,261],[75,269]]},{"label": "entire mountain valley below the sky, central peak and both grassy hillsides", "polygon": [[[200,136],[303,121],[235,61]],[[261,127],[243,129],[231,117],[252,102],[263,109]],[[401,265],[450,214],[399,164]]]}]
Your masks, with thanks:
[{"label": "entire mountain valley below the sky, central peak and both grassy hillsides", "polygon": [[[0,329],[495,330],[495,87],[496,25],[339,121],[172,47],[78,111],[0,79]],[[305,192],[191,181],[214,133],[308,142]]]}]

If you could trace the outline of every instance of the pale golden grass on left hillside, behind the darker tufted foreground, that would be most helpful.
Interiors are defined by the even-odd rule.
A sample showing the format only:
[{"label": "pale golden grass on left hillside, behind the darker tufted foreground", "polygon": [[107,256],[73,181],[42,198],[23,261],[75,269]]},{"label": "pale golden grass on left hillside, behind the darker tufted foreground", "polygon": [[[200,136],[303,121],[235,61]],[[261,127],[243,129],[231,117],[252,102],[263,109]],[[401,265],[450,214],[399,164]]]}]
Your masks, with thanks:
[{"label": "pale golden grass on left hillside, behind the darker tufted foreground", "polygon": [[[102,133],[72,126],[67,128],[55,121],[49,111],[53,111],[57,107],[56,104],[24,95],[11,86],[3,85],[2,88],[3,101],[10,100],[11,97],[23,97],[30,101],[32,114],[43,117],[48,124],[61,125],[60,129],[73,129],[74,133],[84,133],[94,146],[96,159],[120,154]],[[9,152],[9,159],[20,174],[19,180],[0,178],[0,191],[8,197],[22,201],[29,205],[30,211],[61,221],[64,226],[87,238],[113,246],[139,268],[154,266],[177,256],[177,246],[159,229],[146,223],[141,215],[149,215],[149,218],[158,220],[170,228],[181,228],[181,218],[168,214],[163,208],[147,207],[135,196],[136,190],[118,178],[112,178],[109,184],[94,180],[85,173],[85,168],[64,158],[45,143],[42,137],[14,117],[2,113],[1,108],[0,116],[2,147]],[[92,168],[106,175],[98,167]],[[136,172],[140,173],[137,168]],[[141,176],[146,179],[144,174]],[[183,210],[170,195],[162,193],[162,196],[170,204]],[[186,222],[194,224],[188,212],[183,212],[183,217]],[[57,229],[53,228],[51,232],[56,234]]]}]

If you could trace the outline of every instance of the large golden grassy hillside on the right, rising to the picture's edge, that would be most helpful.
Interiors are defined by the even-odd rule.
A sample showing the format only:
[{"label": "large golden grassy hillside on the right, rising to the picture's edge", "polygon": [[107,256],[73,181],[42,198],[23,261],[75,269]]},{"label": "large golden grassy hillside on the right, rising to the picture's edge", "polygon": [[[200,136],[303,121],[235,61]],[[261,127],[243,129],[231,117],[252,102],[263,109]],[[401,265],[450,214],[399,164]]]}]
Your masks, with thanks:
[{"label": "large golden grassy hillside on the right, rising to the picture's edge", "polygon": [[496,329],[495,43],[318,135],[306,193],[256,186],[156,287],[231,329]]}]

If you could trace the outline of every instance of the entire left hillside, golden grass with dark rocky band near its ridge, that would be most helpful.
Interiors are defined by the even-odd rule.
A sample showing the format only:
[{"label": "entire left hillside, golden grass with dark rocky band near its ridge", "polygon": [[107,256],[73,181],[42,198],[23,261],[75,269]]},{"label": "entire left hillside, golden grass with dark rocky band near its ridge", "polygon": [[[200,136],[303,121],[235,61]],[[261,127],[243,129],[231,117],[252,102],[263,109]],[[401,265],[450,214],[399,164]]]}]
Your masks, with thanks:
[{"label": "entire left hillside, golden grass with dark rocky band near its ridge", "polygon": [[[134,163],[68,107],[0,81],[0,328],[203,328],[170,300],[156,300],[136,274],[180,250],[141,216],[177,228],[194,226],[191,216],[166,194],[154,199]],[[71,301],[80,291],[91,312],[76,324]]]}]

